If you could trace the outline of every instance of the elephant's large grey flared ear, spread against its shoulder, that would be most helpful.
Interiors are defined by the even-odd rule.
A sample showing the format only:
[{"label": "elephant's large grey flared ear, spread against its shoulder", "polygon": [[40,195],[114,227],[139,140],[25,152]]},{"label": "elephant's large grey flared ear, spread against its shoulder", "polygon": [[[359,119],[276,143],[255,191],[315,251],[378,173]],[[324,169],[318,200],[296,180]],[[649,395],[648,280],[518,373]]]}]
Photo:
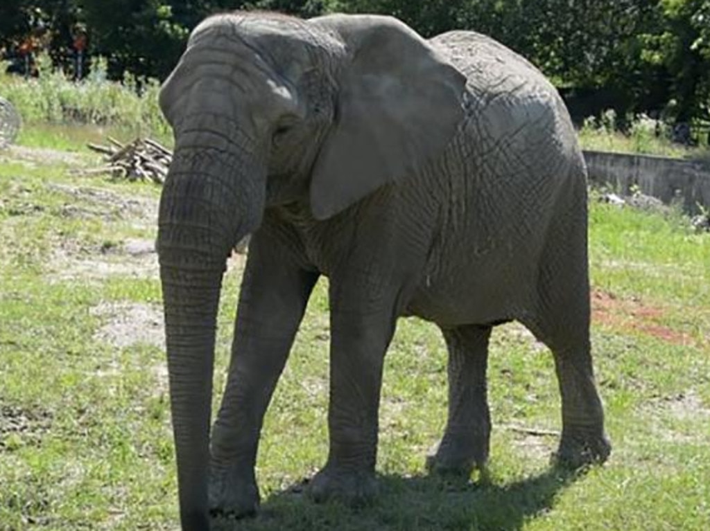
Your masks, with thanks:
[{"label": "elephant's large grey flared ear, spread against its shoulder", "polygon": [[316,20],[347,51],[310,189],[313,216],[326,219],[442,153],[463,118],[466,78],[395,18]]}]

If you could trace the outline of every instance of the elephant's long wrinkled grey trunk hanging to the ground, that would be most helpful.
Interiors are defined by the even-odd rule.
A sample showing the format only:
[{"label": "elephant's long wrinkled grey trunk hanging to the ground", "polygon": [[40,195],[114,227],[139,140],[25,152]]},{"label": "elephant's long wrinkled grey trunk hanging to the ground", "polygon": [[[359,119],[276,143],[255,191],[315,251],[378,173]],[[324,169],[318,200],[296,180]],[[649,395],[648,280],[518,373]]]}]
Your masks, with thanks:
[{"label": "elephant's long wrinkled grey trunk hanging to the ground", "polygon": [[185,530],[209,528],[209,426],[222,274],[231,248],[256,228],[263,210],[261,165],[234,145],[209,147],[224,142],[224,133],[213,134],[201,130],[178,140],[160,199],[158,255]]}]

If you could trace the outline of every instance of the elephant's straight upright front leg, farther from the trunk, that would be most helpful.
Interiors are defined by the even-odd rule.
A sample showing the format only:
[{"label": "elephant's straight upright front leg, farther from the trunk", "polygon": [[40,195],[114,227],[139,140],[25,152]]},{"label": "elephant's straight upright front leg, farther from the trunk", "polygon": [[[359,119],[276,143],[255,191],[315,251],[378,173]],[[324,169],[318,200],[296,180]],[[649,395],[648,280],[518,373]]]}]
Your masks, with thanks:
[{"label": "elephant's straight upright front leg, farther from the trunk", "polygon": [[383,360],[395,328],[394,297],[357,286],[331,284],[330,449],[310,484],[315,501],[348,505],[366,503],[376,493]]}]

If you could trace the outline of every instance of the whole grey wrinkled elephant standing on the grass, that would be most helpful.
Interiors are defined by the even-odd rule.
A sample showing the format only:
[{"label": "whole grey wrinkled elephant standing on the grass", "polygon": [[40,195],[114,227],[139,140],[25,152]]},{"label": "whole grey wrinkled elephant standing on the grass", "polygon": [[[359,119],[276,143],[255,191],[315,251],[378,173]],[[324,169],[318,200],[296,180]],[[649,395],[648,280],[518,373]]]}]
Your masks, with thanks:
[{"label": "whole grey wrinkled elephant standing on the grass", "polygon": [[[488,338],[523,323],[552,351],[558,462],[611,451],[589,340],[586,167],[569,113],[523,57],[396,18],[222,13],[160,89],[175,151],[158,258],[180,520],[258,510],[263,417],[307,301],[328,278],[329,452],[315,501],[376,493],[383,360],[398,318],[435,323],[448,420],[432,474],[488,458]],[[251,234],[212,425],[226,259]]]}]

